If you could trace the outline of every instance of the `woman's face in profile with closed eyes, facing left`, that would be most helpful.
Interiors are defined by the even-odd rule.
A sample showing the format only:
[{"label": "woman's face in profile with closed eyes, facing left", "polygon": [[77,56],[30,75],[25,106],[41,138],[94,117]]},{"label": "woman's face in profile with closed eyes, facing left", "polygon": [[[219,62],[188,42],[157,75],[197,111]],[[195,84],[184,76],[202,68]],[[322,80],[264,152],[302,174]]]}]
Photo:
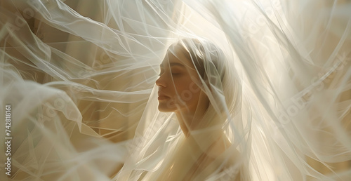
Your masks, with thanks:
[{"label": "woman's face in profile with closed eyes, facing left", "polygon": [[180,48],[166,53],[160,65],[159,86],[160,112],[195,112],[201,89],[196,69]]}]

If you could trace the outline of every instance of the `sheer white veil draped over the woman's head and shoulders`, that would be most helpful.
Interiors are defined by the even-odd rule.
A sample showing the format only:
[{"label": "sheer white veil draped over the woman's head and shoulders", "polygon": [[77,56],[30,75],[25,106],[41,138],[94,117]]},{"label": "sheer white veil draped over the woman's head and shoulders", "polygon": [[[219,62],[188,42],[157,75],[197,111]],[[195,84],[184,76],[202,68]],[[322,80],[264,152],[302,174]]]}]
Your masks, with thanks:
[{"label": "sheer white veil draped over the woman's head and shoulders", "polygon": [[[157,109],[159,104],[157,92],[161,88],[154,86],[133,143],[130,145],[132,148],[130,159],[127,159],[124,168],[117,175],[117,180],[138,180],[140,177],[145,180],[216,180],[223,175],[227,179],[236,179],[238,170],[244,168],[244,166],[241,168],[243,163],[249,163],[250,121],[242,119],[241,81],[233,62],[226,58],[218,46],[200,38],[183,38],[173,43],[168,48],[165,60],[170,56],[192,62],[198,77],[191,76],[197,85],[190,84],[189,88],[177,92],[176,97],[187,104],[188,100],[201,91],[208,98],[208,107],[200,119],[185,123],[186,128],[180,129],[179,117],[175,113],[163,113]],[[180,74],[190,74],[185,68],[183,71]],[[166,74],[166,71],[164,72],[163,74]],[[179,79],[178,74],[171,76],[172,79]],[[173,82],[168,82],[167,86],[179,86],[176,80]],[[204,99],[200,96],[194,114],[201,112],[201,104],[205,104],[201,98]],[[179,108],[179,105],[177,107]],[[183,116],[185,115],[180,117]],[[247,115],[244,117],[247,118]],[[182,131],[184,129],[189,131],[186,138],[186,133]],[[225,138],[221,137],[222,135],[225,135]],[[225,140],[229,140],[230,144],[225,145],[223,150],[208,151],[213,149],[211,145]],[[183,142],[187,144],[184,146]],[[240,150],[240,153],[237,150]],[[213,155],[215,152],[223,155],[215,156]],[[197,163],[201,154],[206,156]],[[182,160],[181,157],[190,157],[194,160]],[[235,163],[228,166],[227,162],[232,161],[232,157],[235,157]],[[177,168],[177,162],[182,163],[181,168]],[[199,168],[194,169],[193,166]],[[211,168],[214,166],[216,169]],[[249,177],[243,175],[241,179],[248,180]]]}]

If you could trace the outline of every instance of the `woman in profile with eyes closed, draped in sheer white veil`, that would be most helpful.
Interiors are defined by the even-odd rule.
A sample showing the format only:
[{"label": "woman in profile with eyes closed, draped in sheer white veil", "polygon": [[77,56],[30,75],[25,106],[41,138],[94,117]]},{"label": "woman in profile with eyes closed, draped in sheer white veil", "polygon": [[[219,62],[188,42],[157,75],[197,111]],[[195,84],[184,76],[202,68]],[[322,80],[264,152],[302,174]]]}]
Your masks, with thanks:
[{"label": "woman in profile with eyes closed, draped in sheer white veil", "polygon": [[[237,150],[239,144],[231,134],[237,131],[234,129],[240,129],[240,124],[234,123],[234,117],[241,106],[241,83],[234,72],[227,71],[229,67],[232,65],[227,62],[223,51],[206,40],[180,39],[168,48],[160,65],[159,79],[156,81],[158,88],[154,88],[154,93],[157,91],[159,112],[173,112],[171,119],[176,119],[174,121],[179,126],[173,123],[174,127],[155,127],[154,124],[166,121],[161,120],[163,113],[157,113],[159,117],[152,120],[147,126],[150,129],[138,142],[140,149],[133,150],[131,155],[131,158],[140,158],[141,163],[130,164],[137,168],[139,165],[149,165],[147,171],[138,173],[133,170],[128,173],[127,161],[117,180],[244,178],[241,176],[245,171],[241,170],[244,156],[240,156]],[[147,107],[153,106],[154,99],[150,99]],[[142,119],[140,122],[144,121]],[[234,125],[237,126],[234,128]],[[152,130],[157,130],[157,133],[152,133]],[[169,130],[173,130],[175,135]],[[166,133],[160,133],[162,131]],[[147,138],[148,135],[150,138]],[[162,149],[165,153],[160,152],[156,158],[152,154],[164,147],[164,143],[156,145],[155,139],[162,137],[172,137],[173,141],[166,141]],[[239,134],[236,137],[238,140],[244,139]],[[168,150],[170,147],[173,152]],[[148,150],[144,152],[145,149]],[[157,164],[152,163],[155,159]],[[248,180],[247,175],[245,178]]]}]

